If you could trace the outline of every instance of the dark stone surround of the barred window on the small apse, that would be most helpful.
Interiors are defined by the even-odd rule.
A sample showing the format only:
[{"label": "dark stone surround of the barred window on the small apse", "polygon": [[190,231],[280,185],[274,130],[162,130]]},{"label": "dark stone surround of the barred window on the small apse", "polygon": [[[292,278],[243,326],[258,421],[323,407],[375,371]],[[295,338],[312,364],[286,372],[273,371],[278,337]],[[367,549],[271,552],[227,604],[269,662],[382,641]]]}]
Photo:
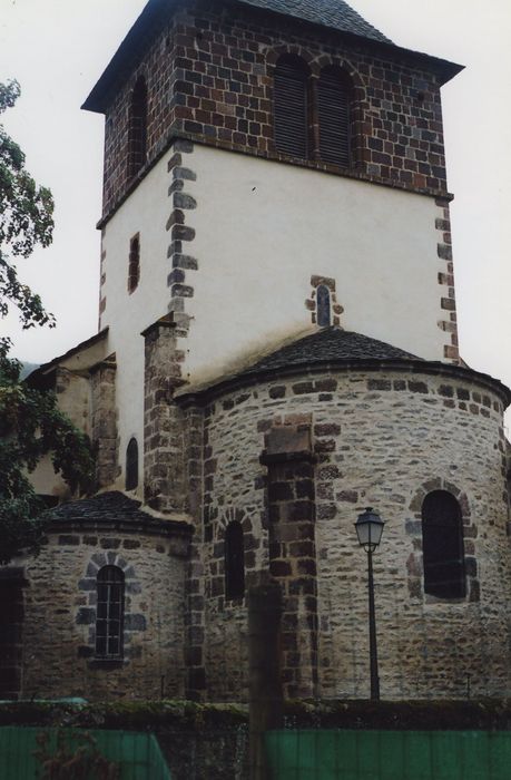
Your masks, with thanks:
[{"label": "dark stone surround of the barred window on the small apse", "polygon": [[[99,569],[105,566],[117,566],[121,569],[125,578],[122,657],[96,656],[97,576]],[[131,647],[132,637],[146,631],[146,616],[132,608],[132,596],[139,595],[143,588],[131,564],[117,553],[95,553],[89,559],[85,577],[78,583],[78,589],[82,595],[87,594],[87,606],[78,608],[75,622],[79,626],[89,626],[87,644],[78,647],[78,657],[87,659],[90,669],[108,670],[128,664],[130,659],[136,655]]]}]

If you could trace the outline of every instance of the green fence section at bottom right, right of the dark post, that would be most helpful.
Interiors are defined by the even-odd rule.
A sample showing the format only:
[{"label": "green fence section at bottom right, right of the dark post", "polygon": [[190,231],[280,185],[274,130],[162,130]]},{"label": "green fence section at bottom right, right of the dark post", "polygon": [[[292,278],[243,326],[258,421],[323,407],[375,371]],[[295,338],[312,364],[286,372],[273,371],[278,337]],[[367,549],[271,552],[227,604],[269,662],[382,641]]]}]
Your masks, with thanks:
[{"label": "green fence section at bottom right, right of the dark post", "polygon": [[272,780],[511,779],[508,731],[271,731],[266,751]]}]

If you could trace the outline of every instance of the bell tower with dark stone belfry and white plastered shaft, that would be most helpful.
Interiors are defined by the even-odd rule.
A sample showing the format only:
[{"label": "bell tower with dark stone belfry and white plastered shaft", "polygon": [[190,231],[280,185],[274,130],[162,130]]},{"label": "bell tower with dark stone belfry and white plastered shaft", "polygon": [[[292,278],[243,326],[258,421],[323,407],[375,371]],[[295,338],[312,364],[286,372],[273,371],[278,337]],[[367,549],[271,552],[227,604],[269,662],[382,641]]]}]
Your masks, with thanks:
[{"label": "bell tower with dark stone belfry and white plastered shaft", "polygon": [[83,106],[106,118],[121,452],[164,316],[191,388],[325,324],[458,361],[440,89],[460,69],[343,0],[148,2]]}]

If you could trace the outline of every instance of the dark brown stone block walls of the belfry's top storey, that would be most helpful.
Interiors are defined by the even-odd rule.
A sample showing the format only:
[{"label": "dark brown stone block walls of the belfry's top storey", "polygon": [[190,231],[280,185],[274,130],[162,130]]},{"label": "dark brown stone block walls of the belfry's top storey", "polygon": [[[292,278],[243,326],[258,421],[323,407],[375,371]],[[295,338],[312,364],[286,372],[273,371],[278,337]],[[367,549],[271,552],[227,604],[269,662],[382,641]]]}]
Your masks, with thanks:
[{"label": "dark brown stone block walls of the belfry's top storey", "polygon": [[[445,193],[440,88],[419,65],[392,61],[341,33],[209,0],[178,3],[144,58],[119,85],[106,115],[104,216],[145,175],[169,140],[185,136],[248,154],[278,154],[273,126],[273,72],[279,55],[303,57],[313,80],[331,64],[354,85],[352,170],[293,160],[417,192]],[[147,164],[128,179],[128,107],[139,76],[148,88]],[[314,90],[313,90],[314,91]]]}]

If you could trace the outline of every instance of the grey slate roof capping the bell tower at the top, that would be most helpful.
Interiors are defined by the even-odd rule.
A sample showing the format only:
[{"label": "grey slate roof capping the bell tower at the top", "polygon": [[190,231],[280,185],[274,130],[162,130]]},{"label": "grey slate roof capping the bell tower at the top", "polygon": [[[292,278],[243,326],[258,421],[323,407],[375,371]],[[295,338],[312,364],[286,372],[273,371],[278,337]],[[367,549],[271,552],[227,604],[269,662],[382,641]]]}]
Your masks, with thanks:
[{"label": "grey slate roof capping the bell tower at the top", "polygon": [[344,0],[238,0],[238,2],[265,8],[268,11],[276,11],[296,19],[304,19],[315,25],[323,25],[382,43],[392,43]]}]

